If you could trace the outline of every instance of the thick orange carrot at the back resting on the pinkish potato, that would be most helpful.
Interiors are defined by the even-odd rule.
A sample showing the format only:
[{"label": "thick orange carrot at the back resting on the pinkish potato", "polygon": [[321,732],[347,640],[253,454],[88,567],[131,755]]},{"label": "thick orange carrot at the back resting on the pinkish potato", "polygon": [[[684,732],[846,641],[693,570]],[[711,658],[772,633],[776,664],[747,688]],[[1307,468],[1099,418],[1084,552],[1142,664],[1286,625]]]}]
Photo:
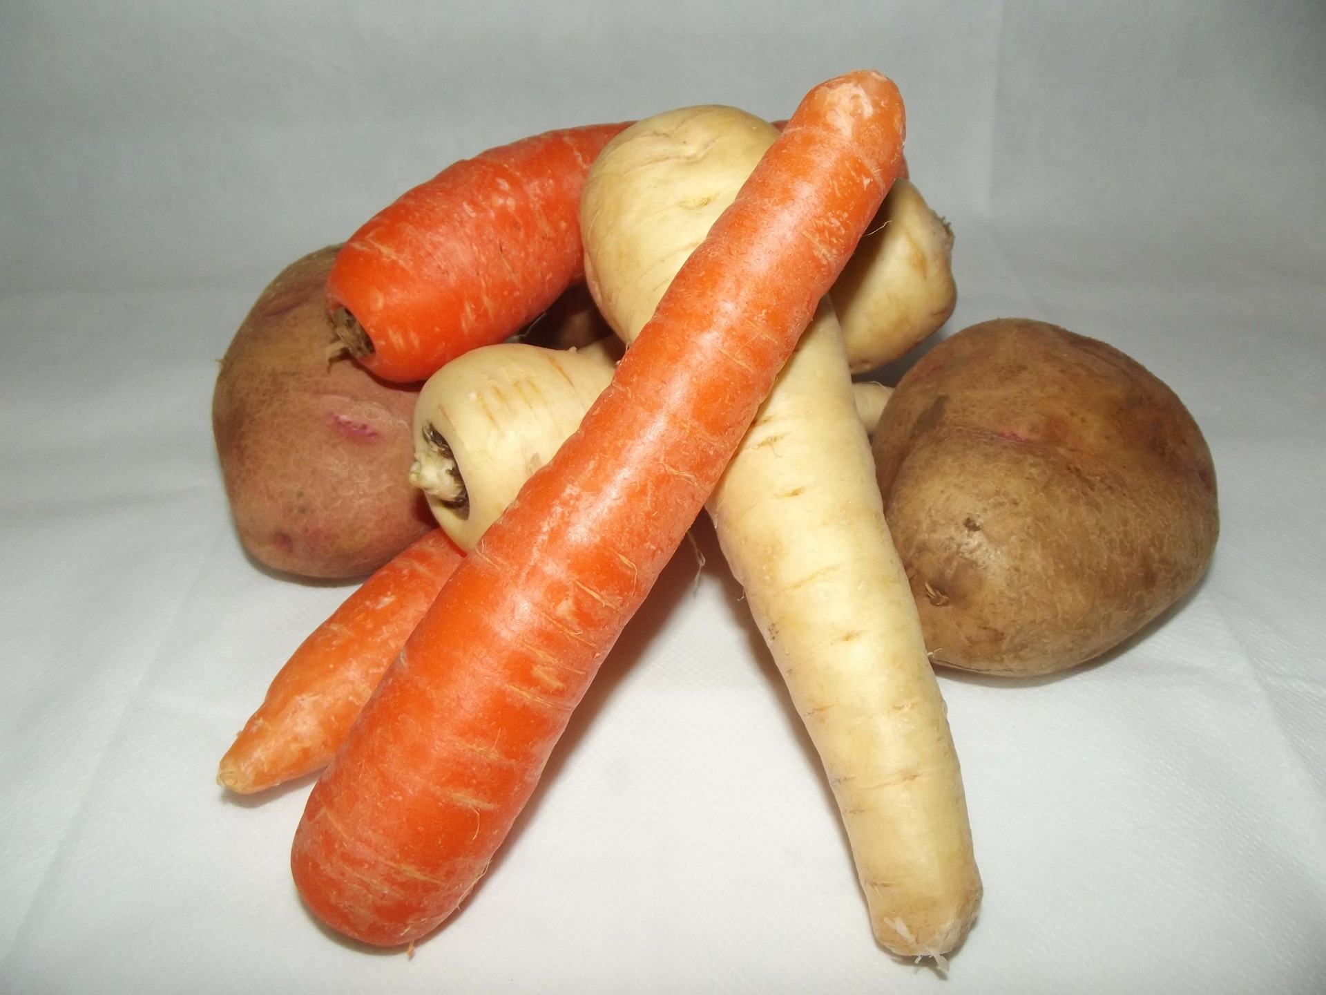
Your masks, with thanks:
[{"label": "thick orange carrot at the back resting on the pinkish potato", "polygon": [[383,379],[426,379],[548,308],[581,276],[581,187],[623,127],[489,149],[374,215],[328,276],[328,306],[350,354]]}]

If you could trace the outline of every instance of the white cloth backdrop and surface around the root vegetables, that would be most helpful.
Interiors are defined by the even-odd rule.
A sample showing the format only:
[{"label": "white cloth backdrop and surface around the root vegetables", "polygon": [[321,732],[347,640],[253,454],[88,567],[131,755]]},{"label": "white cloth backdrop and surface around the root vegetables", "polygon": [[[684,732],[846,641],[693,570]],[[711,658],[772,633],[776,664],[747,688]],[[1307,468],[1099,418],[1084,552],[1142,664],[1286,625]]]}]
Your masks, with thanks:
[{"label": "white cloth backdrop and surface around the root vegetables", "polygon": [[[1326,990],[1326,8],[0,5],[0,988]],[[987,897],[947,980],[871,942],[813,754],[712,533],[605,666],[416,957],[320,930],[308,781],[216,760],[351,590],[257,570],[208,409],[248,305],[456,158],[873,66],[953,223],[956,330],[1025,314],[1166,379],[1223,533],[1107,662],[941,675]]]}]

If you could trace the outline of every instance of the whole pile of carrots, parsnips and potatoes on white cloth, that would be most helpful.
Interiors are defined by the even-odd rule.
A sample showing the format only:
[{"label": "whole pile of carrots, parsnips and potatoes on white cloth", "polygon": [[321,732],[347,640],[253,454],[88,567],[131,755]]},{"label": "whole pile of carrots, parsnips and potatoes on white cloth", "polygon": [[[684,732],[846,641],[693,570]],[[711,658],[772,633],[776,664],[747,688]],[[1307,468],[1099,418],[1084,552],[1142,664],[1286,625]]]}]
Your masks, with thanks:
[{"label": "whole pile of carrots, parsnips and potatoes on white cloth", "polygon": [[[240,539],[281,570],[375,572],[217,780],[322,771],[290,868],[333,930],[408,947],[456,911],[708,509],[838,803],[845,901],[947,970],[981,878],[931,663],[1046,673],[1115,645],[1205,569],[1215,475],[1164,385],[1038,322],[968,329],[892,391],[853,382],[956,302],[903,133],[874,72],[776,125],[703,106],[549,131],[264,292],[213,406]],[[1132,509],[1164,492],[1167,517],[1102,515],[1093,482]],[[1054,570],[1105,586],[1024,584]]]}]

